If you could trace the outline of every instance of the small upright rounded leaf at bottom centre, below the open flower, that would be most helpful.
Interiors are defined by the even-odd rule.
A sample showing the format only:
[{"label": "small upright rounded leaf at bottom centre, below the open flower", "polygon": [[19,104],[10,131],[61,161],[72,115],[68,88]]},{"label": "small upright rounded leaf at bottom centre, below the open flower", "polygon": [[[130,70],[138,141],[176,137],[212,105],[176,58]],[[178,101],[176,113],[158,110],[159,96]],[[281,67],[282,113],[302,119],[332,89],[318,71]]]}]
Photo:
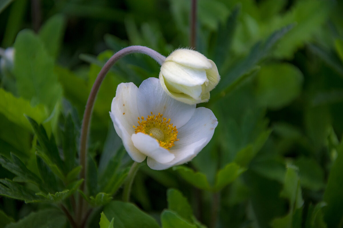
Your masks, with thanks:
[{"label": "small upright rounded leaf at bottom centre, below the open flower", "polygon": [[176,212],[179,216],[191,222],[193,220],[193,211],[187,198],[179,190],[168,189],[167,191],[168,209]]}]

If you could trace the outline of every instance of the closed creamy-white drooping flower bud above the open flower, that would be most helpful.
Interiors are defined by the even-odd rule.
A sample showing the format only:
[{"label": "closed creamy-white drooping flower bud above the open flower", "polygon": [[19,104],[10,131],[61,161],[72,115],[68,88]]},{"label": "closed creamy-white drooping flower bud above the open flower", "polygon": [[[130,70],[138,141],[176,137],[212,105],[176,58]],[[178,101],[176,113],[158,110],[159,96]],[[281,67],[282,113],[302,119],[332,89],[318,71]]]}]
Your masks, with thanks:
[{"label": "closed creamy-white drooping flower bud above the open flower", "polygon": [[177,49],[162,63],[159,80],[169,96],[186,104],[198,104],[210,99],[210,91],[220,76],[215,63],[203,54]]}]

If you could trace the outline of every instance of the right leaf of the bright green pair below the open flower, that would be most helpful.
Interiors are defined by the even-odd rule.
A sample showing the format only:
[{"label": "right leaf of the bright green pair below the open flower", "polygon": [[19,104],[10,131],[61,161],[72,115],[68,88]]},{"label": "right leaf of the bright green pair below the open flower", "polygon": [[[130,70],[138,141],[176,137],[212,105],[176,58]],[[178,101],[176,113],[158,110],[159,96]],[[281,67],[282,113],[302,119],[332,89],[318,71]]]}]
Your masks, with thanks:
[{"label": "right leaf of the bright green pair below the open flower", "polygon": [[220,191],[226,185],[232,183],[245,170],[246,169],[241,168],[236,163],[227,164],[223,169],[217,172],[214,190]]}]

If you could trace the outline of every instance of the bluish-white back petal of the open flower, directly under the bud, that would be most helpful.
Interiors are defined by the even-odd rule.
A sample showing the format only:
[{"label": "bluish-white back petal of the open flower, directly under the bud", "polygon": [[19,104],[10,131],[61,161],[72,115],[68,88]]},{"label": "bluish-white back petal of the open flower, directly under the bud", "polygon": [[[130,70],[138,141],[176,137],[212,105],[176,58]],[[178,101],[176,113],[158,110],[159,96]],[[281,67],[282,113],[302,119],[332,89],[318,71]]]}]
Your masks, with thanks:
[{"label": "bluish-white back petal of the open flower, directly under the bud", "polygon": [[[146,118],[153,112],[163,114],[176,128],[180,128],[192,117],[196,105],[188,105],[170,97],[157,78],[148,78],[142,82],[137,92],[137,105],[141,116]],[[136,117],[137,119],[137,117]]]}]

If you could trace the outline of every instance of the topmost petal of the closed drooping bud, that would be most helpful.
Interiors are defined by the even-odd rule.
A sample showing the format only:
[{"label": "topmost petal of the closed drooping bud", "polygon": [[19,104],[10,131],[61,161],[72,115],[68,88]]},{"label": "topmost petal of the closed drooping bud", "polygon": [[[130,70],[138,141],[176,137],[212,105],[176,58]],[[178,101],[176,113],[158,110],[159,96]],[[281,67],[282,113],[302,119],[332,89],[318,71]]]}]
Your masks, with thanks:
[{"label": "topmost petal of the closed drooping bud", "polygon": [[175,50],[166,58],[165,61],[173,61],[175,63],[193,68],[211,68],[211,64],[208,62],[208,58],[197,51],[189,49]]}]

